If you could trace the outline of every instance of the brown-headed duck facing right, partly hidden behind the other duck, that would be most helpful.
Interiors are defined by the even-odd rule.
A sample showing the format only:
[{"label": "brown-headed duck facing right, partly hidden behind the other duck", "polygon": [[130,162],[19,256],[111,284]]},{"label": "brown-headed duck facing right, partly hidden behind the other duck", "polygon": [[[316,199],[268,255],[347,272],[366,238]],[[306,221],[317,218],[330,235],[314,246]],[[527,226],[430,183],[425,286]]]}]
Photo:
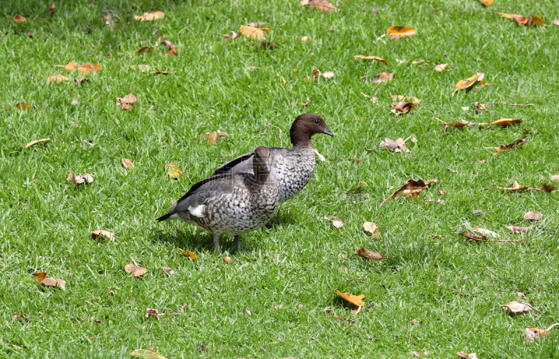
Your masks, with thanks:
[{"label": "brown-headed duck facing right, partly hidden behind the other duck", "polygon": [[[304,113],[295,119],[289,130],[293,149],[268,147],[272,158],[270,176],[279,191],[280,202],[293,198],[312,177],[314,151],[310,138],[314,133],[334,135],[322,117],[314,115],[314,113]],[[252,156],[254,156],[254,152],[242,154],[218,168],[213,175],[253,173]]]}]

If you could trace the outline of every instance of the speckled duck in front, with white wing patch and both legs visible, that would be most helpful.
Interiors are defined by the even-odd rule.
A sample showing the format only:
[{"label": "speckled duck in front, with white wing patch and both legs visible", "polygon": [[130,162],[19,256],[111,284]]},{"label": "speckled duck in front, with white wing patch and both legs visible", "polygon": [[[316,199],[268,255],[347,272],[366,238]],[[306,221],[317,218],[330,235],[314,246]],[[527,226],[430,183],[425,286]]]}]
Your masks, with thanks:
[{"label": "speckled duck in front, with white wing patch and both legs visible", "polygon": [[213,233],[217,253],[219,235],[233,235],[240,252],[240,235],[266,224],[279,203],[270,176],[270,149],[260,146],[250,153],[252,173],[220,173],[194,184],[157,221],[178,219]]}]

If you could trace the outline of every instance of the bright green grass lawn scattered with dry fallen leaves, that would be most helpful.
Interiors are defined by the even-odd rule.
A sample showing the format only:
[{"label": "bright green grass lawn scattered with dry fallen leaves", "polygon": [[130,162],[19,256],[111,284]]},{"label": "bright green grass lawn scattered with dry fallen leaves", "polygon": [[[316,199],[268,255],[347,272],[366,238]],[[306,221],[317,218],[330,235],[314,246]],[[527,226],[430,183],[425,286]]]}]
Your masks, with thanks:
[{"label": "bright green grass lawn scattered with dry fallen leaves", "polygon": [[[538,191],[484,191],[514,180],[539,187],[559,173],[559,27],[528,29],[496,14],[533,11],[550,24],[558,17],[556,1],[497,0],[488,8],[474,0],[343,1],[330,15],[298,1],[139,1],[140,10],[126,1],[57,1],[53,18],[47,4],[3,1],[0,10],[0,358],[129,358],[133,349],[151,346],[167,358],[414,358],[412,351],[430,351],[427,358],[456,358],[457,351],[558,358],[557,331],[539,344],[521,338],[525,327],[559,321],[558,205]],[[119,29],[105,27],[105,9]],[[164,11],[164,19],[133,22],[133,15],[152,10]],[[13,21],[17,13],[27,24]],[[225,43],[219,35],[253,21],[270,23],[266,36],[277,50],[259,50],[242,37]],[[375,42],[391,25],[418,32]],[[156,27],[177,45],[176,57],[166,57]],[[301,45],[302,36],[313,39]],[[154,50],[134,55],[146,45]],[[385,57],[389,65],[354,54]],[[416,59],[430,63],[412,65]],[[47,85],[48,75],[68,75],[52,65],[70,61],[99,63],[102,70],[81,85],[73,82],[77,72],[69,82]],[[433,71],[442,63],[453,66]],[[136,64],[172,74],[129,68]],[[315,68],[335,76],[300,81]],[[395,78],[379,85],[359,80],[379,72]],[[476,72],[495,85],[451,98],[454,84]],[[378,106],[360,94],[378,89]],[[115,104],[129,92],[138,96],[133,113]],[[420,98],[420,108],[395,117],[391,94]],[[13,110],[22,101],[31,109]],[[475,114],[475,101],[491,114]],[[489,106],[502,102],[535,106]],[[242,255],[231,264],[194,226],[154,221],[226,159],[258,145],[288,145],[289,126],[302,112],[321,115],[335,133],[313,138],[328,161],[317,161],[307,187],[279,206],[274,221],[282,225],[242,237]],[[433,117],[524,122],[443,135]],[[523,128],[538,128],[525,145],[500,156],[486,149],[525,138]],[[216,146],[200,142],[217,129],[229,137]],[[409,135],[418,140],[408,142],[409,154],[364,149]],[[45,137],[52,140],[23,149]],[[122,168],[122,158],[136,168]],[[189,168],[180,180],[166,176],[169,161]],[[66,181],[69,171],[84,170],[94,183]],[[448,194],[440,196],[435,184],[418,200],[379,208],[410,177],[437,178]],[[365,196],[345,193],[360,181],[368,184]],[[437,198],[445,203],[423,203]],[[538,229],[510,235],[505,226],[530,210],[544,214]],[[337,230],[324,216],[345,226]],[[365,235],[363,221],[375,222],[382,239]],[[466,242],[454,233],[467,226],[527,240]],[[113,231],[116,241],[94,242],[96,229]],[[177,247],[198,260],[181,257]],[[233,247],[224,236],[222,249]],[[391,258],[365,262],[353,254],[358,247]],[[123,270],[129,257],[150,271],[129,277]],[[41,271],[66,279],[66,291],[38,286],[30,274]],[[355,278],[367,279],[348,281]],[[336,290],[363,293],[373,306],[352,316]],[[542,313],[502,312],[498,302],[516,300],[518,291]],[[165,315],[145,318],[147,307]],[[323,315],[328,308],[333,312]],[[14,321],[13,312],[29,320]],[[209,347],[198,351],[200,344]]]}]

